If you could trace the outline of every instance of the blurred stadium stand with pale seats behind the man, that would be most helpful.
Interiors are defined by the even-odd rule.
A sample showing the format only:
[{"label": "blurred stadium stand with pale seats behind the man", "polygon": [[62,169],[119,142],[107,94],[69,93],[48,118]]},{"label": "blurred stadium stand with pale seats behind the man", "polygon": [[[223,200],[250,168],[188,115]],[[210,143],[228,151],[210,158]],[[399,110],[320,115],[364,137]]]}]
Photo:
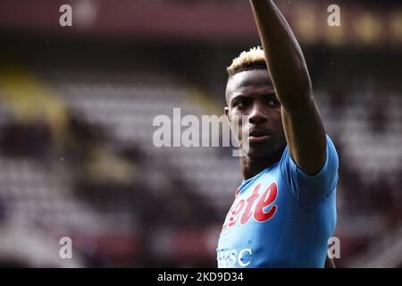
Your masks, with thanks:
[{"label": "blurred stadium stand with pale seats behind the man", "polygon": [[[330,29],[329,1],[278,2],[339,151],[335,263],[400,267],[402,7],[344,1]],[[157,148],[152,122],[222,114],[224,67],[258,44],[247,1],[76,1],[61,28],[64,3],[0,2],[0,265],[214,267],[239,158]]]}]

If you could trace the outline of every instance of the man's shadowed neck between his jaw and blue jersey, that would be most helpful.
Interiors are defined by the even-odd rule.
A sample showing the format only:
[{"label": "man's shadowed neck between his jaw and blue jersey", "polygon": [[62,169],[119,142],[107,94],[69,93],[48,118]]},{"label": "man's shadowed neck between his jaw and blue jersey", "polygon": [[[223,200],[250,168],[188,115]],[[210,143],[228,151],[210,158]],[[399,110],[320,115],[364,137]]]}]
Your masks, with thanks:
[{"label": "man's shadowed neck between his jaw and blue jersey", "polygon": [[283,149],[272,156],[242,156],[240,160],[241,172],[244,180],[254,177],[256,174],[263,172],[266,168],[272,166],[281,160]]}]

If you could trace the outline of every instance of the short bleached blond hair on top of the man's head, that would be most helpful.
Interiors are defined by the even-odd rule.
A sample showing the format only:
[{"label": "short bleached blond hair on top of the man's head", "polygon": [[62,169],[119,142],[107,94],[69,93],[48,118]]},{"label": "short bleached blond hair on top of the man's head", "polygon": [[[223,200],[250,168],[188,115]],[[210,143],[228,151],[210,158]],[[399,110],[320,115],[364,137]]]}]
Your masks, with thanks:
[{"label": "short bleached blond hair on top of the man's head", "polygon": [[240,71],[263,70],[266,68],[264,50],[261,46],[255,46],[235,58],[226,71],[228,71],[229,76],[232,76]]}]

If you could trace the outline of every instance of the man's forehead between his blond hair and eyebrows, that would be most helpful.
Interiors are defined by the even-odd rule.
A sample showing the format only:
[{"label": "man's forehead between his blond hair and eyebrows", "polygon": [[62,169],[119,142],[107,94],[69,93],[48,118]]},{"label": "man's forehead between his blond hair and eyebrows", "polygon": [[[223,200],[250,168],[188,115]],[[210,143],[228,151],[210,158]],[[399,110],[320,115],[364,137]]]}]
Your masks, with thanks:
[{"label": "man's forehead between his blond hair and eyebrows", "polygon": [[228,80],[226,97],[235,94],[248,94],[257,90],[270,90],[273,88],[272,80],[267,70],[241,71]]}]

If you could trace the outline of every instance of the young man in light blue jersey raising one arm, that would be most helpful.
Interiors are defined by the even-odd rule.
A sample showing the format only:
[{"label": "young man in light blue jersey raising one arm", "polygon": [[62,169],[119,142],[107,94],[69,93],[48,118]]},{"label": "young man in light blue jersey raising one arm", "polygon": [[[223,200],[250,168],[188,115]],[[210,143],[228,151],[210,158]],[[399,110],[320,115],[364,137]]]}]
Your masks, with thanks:
[{"label": "young man in light blue jersey raising one arm", "polygon": [[271,0],[250,0],[264,51],[228,68],[230,122],[247,116],[244,181],[222,227],[219,267],[323,267],[336,224],[338,156],[314,103],[306,62]]}]

